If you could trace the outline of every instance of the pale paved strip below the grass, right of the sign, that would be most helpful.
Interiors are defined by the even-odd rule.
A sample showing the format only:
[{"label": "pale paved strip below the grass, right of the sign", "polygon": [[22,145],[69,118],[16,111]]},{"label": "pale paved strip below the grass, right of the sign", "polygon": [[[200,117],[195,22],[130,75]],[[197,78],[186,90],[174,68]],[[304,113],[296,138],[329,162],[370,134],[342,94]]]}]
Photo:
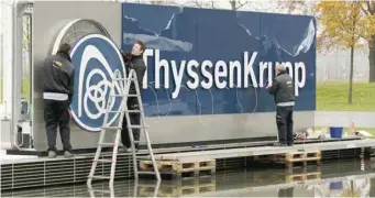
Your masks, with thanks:
[{"label": "pale paved strip below the grass, right of the sign", "polygon": [[316,111],[316,125],[319,127],[350,127],[351,121],[356,128],[375,128],[375,112]]}]

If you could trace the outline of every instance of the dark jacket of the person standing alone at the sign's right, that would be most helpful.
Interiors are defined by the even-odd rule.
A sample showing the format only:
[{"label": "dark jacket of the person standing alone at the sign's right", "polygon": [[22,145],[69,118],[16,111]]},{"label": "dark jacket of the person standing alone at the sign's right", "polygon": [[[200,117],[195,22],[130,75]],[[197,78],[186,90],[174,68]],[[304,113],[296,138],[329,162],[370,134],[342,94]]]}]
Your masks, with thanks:
[{"label": "dark jacket of the person standing alone at the sign's right", "polygon": [[272,87],[267,90],[269,94],[274,95],[277,106],[285,106],[287,103],[291,103],[290,106],[294,106],[295,87],[293,78],[287,72],[279,73],[275,77]]}]

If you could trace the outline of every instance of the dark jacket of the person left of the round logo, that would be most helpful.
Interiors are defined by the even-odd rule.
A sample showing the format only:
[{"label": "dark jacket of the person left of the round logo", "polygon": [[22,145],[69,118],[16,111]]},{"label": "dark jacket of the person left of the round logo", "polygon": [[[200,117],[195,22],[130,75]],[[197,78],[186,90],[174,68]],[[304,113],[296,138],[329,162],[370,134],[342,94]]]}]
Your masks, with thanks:
[{"label": "dark jacket of the person left of the round logo", "polygon": [[43,65],[43,85],[45,95],[67,95],[68,105],[74,94],[74,74],[69,54],[57,53],[45,58]]}]

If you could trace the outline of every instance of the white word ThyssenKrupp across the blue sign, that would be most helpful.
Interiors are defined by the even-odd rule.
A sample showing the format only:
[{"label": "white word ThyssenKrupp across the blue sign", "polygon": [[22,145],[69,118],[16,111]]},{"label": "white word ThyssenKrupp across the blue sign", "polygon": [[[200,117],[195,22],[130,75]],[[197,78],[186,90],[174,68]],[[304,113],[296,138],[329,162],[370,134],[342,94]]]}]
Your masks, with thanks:
[{"label": "white word ThyssenKrupp across the blue sign", "polygon": [[[239,61],[218,61],[212,63],[209,59],[199,63],[196,59],[190,61],[180,61],[178,62],[172,59],[163,59],[161,58],[161,54],[158,50],[146,50],[143,59],[146,66],[148,65],[148,57],[155,56],[155,88],[161,88],[161,76],[164,74],[164,87],[168,89],[169,85],[169,76],[173,78],[172,81],[175,84],[175,88],[172,92],[172,98],[178,98],[181,86],[185,84],[189,89],[197,89],[199,85],[203,89],[210,89],[213,84],[219,89],[224,89],[228,84],[229,88],[247,88],[252,86],[254,88],[265,87],[266,84],[272,84],[274,78],[274,69],[277,62],[260,62],[255,63],[257,52],[253,52],[251,57],[249,56],[249,52],[244,52],[243,54],[243,65]],[[258,64],[260,76],[258,78],[254,73],[254,64]],[[295,92],[296,96],[299,95],[299,88],[305,87],[306,84],[306,66],[305,63],[290,63],[283,62],[283,65],[286,66],[288,74],[295,79]],[[294,64],[294,65],[293,65]],[[169,66],[172,67],[172,75],[169,75]],[[213,68],[214,66],[214,68]],[[200,68],[199,68],[200,67]],[[164,73],[162,72],[164,68]],[[184,78],[185,72],[189,76],[187,80]],[[244,80],[242,80],[244,78]],[[147,74],[145,74],[143,88],[147,88]],[[251,80],[251,84],[250,81]],[[258,81],[257,81],[258,80]],[[268,80],[268,82],[266,82]]]}]

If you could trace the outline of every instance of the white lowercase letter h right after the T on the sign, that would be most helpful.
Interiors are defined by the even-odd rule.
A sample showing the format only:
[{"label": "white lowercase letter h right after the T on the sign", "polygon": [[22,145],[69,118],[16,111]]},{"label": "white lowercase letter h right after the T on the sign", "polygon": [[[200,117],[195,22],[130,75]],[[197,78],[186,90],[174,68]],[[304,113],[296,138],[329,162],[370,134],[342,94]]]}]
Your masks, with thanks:
[{"label": "white lowercase letter h right after the T on the sign", "polygon": [[161,61],[161,53],[155,50],[155,88],[161,88],[161,68],[164,67],[164,86],[169,88],[169,65],[166,59]]}]

